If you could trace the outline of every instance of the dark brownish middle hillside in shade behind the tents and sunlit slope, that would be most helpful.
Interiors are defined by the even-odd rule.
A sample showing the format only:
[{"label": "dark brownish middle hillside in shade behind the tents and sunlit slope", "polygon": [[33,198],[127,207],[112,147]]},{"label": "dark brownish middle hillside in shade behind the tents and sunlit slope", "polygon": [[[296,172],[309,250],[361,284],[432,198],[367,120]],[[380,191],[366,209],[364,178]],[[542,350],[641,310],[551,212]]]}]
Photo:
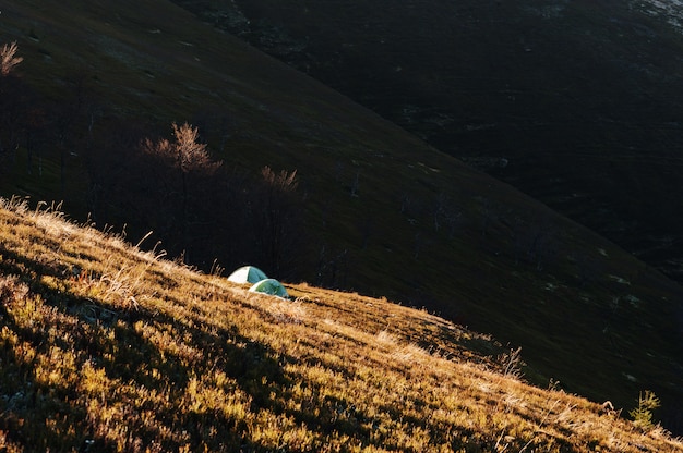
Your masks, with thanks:
[{"label": "dark brownish middle hillside in shade behind the tents and sunlit slope", "polygon": [[[125,223],[133,242],[177,230],[173,217],[147,222],[144,184],[160,172],[136,172],[130,124],[145,134],[199,124],[224,168],[297,170],[303,226],[290,281],[386,296],[491,333],[523,348],[541,385],[559,380],[620,407],[652,390],[661,419],[680,427],[681,289],[615,245],[171,2],[7,2],[0,30],[19,41],[32,99],[49,107],[39,133],[20,130],[2,156],[3,194],[63,199],[98,228]],[[112,197],[129,183],[142,188]],[[224,212],[211,201],[221,184],[203,186],[196,204]],[[178,192],[169,187],[161,195]],[[245,201],[230,200],[238,212]],[[202,262],[242,264],[221,248],[239,219],[202,220],[218,230],[204,248],[220,252]],[[190,243],[145,244],[156,238],[192,256]]]}]

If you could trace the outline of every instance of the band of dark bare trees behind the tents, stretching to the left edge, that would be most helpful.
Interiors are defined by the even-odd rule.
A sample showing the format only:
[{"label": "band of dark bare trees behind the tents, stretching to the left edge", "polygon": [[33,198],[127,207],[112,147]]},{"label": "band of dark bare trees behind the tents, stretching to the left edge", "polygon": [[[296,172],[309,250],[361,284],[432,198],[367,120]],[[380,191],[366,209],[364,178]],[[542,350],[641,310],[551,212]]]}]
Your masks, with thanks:
[{"label": "band of dark bare trees behind the tents, stretching to the left edge", "polygon": [[[273,274],[296,277],[296,257],[305,249],[296,172],[276,173],[266,166],[252,175],[224,167],[188,123],[173,123],[166,134],[170,138],[152,139],[154,124],[103,121],[87,105],[84,83],[75,81],[72,96],[50,102],[15,75],[0,77],[5,177],[17,164],[20,147],[25,172],[38,177],[47,171],[46,148],[57,148],[55,195],[70,199],[68,188],[81,191],[96,224],[122,228],[134,219],[152,230],[147,246],[163,241],[171,256],[207,270],[260,262]],[[95,127],[96,121],[105,126]],[[79,156],[85,158],[74,181],[72,161]]]}]

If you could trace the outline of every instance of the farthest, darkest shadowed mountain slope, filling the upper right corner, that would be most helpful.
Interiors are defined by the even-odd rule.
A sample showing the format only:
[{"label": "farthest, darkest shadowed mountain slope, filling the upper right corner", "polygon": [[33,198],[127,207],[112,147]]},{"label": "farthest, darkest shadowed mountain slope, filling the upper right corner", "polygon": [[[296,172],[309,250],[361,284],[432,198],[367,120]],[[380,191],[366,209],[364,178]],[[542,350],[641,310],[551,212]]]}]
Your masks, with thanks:
[{"label": "farthest, darkest shadowed mountain slope, filling the upper right corner", "polygon": [[176,2],[681,278],[680,1]]}]

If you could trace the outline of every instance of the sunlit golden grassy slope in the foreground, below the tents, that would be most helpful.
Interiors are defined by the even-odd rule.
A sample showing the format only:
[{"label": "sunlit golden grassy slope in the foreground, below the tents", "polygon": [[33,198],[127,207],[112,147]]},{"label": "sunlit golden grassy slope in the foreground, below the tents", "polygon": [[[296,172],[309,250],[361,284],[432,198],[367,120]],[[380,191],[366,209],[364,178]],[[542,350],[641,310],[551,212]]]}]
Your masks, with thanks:
[{"label": "sunlit golden grassy slope in the foreground, below the tents", "polygon": [[7,200],[0,256],[2,451],[683,449],[384,298],[255,295]]}]

